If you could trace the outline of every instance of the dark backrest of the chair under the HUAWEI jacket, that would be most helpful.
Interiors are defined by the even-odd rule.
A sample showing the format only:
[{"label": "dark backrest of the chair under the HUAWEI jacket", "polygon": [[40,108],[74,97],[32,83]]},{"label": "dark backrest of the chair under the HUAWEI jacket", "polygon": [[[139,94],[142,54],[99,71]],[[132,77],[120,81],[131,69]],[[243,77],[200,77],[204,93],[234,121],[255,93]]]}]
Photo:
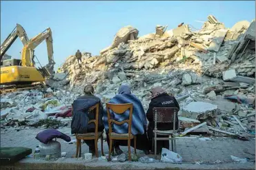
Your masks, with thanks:
[{"label": "dark backrest of the chair under the HUAWEI jacket", "polygon": [[177,111],[177,107],[154,107],[155,128],[157,128],[157,123],[173,123],[173,129],[175,130]]}]

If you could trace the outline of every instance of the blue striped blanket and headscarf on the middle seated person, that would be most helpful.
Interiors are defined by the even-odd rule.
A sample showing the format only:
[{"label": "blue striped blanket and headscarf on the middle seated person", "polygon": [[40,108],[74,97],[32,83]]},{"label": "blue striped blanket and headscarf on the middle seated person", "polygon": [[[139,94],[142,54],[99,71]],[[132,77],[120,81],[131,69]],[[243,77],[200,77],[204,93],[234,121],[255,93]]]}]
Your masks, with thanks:
[{"label": "blue striped blanket and headscarf on the middle seated person", "polygon": [[[129,91],[129,92],[128,92]],[[147,125],[146,114],[144,108],[141,104],[139,98],[137,98],[134,94],[130,94],[130,88],[126,88],[126,85],[121,85],[119,88],[119,94],[117,94],[114,98],[110,100],[109,103],[112,104],[125,104],[132,103],[133,111],[132,111],[132,135],[144,134],[144,127]],[[129,110],[126,110],[124,114],[115,114],[112,110],[110,110],[110,116],[114,120],[121,122],[122,120],[128,119]],[[108,115],[106,109],[104,111],[104,127],[108,132]],[[128,133],[128,123],[124,123],[123,125],[113,124],[112,131],[117,134],[127,134]]]}]

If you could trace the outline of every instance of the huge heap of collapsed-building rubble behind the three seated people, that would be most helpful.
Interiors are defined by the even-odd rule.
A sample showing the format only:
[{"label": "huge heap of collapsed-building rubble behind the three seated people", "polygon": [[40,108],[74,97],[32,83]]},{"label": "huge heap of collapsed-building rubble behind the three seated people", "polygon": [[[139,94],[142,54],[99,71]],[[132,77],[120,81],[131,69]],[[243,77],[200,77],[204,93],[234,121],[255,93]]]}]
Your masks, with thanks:
[{"label": "huge heap of collapsed-building rubble behind the three seated people", "polygon": [[[173,30],[166,28],[157,25],[156,33],[140,37],[131,26],[121,28],[99,56],[83,53],[81,63],[69,56],[62,72],[46,81],[50,87],[43,92],[2,95],[5,125],[27,120],[31,107],[37,122],[38,115],[46,115],[67,123],[70,118],[55,118],[55,114],[70,109],[73,100],[83,95],[84,85],[92,84],[105,105],[121,84],[128,84],[145,111],[152,87],[163,87],[175,96],[184,134],[200,123],[206,125],[189,133],[255,133],[255,21],[241,21],[227,29],[209,16],[201,30],[192,31],[183,23]],[[37,96],[30,95],[34,93]],[[25,96],[26,105],[21,104]],[[20,117],[15,119],[16,115]]]}]

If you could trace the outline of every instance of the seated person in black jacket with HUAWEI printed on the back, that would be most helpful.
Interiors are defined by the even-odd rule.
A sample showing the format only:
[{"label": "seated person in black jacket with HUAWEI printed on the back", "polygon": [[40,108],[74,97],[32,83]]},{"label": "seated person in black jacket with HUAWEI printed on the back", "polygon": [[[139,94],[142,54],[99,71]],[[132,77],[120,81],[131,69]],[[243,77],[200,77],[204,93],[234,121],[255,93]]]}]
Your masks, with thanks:
[{"label": "seated person in black jacket with HUAWEI printed on the back", "polygon": [[[153,116],[155,116],[155,113],[153,113],[154,107],[177,107],[179,110],[179,103],[177,103],[177,100],[173,96],[169,96],[165,89],[162,89],[161,87],[154,87],[151,90],[151,102],[148,107],[148,111],[146,113],[146,116],[148,118],[148,140],[150,141],[151,148],[152,146],[152,138],[154,137],[153,130],[155,129],[155,122],[153,120]],[[175,129],[178,129],[179,121],[178,116],[176,115],[175,120]],[[157,124],[158,130],[172,130],[173,129],[173,123],[159,123]],[[159,136],[159,138],[168,138],[168,136]],[[157,154],[161,152],[162,148],[169,149],[169,141],[168,140],[157,140]],[[153,147],[155,148],[155,147]]]}]

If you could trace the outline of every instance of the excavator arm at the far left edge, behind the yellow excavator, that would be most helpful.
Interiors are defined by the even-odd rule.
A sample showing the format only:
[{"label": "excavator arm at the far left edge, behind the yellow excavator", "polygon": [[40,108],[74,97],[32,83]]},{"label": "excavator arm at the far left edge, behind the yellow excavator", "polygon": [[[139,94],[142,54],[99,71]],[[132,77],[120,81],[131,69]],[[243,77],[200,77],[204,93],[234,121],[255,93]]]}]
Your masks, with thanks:
[{"label": "excavator arm at the far left edge, behind the yellow excavator", "polygon": [[[1,44],[1,54],[0,54],[0,61],[3,58],[3,55],[6,54],[6,51],[10,48],[12,43],[17,39],[17,37],[21,39],[21,42],[23,45],[26,45],[28,43],[28,36],[24,30],[24,28],[17,23],[16,27],[12,30],[12,32],[8,35],[5,41]],[[32,52],[32,56],[34,55],[34,52]]]}]

